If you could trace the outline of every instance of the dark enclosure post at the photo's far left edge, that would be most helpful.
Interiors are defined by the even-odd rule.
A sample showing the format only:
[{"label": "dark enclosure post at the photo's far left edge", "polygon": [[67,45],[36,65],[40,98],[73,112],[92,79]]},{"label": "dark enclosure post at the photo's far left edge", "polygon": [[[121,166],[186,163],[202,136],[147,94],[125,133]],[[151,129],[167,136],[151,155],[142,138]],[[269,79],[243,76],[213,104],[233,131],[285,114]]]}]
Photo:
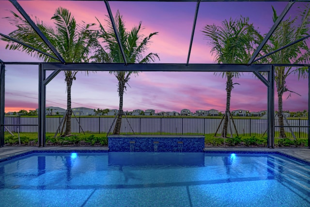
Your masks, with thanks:
[{"label": "dark enclosure post at the photo's far left edge", "polygon": [[4,145],[4,69],[5,65],[2,61],[0,71],[0,147]]}]

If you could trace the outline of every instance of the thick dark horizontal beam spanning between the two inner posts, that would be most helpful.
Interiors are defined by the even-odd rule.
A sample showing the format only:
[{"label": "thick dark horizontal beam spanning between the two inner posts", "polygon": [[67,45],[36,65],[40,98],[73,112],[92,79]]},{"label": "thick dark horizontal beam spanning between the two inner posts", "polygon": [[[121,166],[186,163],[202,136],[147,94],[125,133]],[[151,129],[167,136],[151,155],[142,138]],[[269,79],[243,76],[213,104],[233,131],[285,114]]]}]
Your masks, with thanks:
[{"label": "thick dark horizontal beam spanning between the two inner posts", "polygon": [[192,71],[192,72],[269,72],[268,64],[98,64],[98,63],[43,63],[44,70],[78,70],[78,71]]}]

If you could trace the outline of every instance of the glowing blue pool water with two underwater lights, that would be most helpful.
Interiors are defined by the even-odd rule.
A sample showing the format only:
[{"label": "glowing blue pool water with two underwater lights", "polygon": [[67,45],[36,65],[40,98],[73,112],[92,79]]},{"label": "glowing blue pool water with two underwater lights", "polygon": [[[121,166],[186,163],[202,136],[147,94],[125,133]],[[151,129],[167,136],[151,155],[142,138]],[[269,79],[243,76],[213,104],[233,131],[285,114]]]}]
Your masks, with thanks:
[{"label": "glowing blue pool water with two underwater lights", "polygon": [[0,206],[309,207],[310,165],[277,153],[31,153],[0,162]]}]

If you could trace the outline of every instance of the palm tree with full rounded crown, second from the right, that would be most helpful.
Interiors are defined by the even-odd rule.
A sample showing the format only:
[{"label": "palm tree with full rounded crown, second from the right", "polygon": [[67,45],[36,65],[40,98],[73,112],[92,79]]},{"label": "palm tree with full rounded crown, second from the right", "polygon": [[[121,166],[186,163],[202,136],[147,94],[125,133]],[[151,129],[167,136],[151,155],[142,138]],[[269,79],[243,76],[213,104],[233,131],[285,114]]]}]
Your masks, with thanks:
[{"label": "palm tree with full rounded crown, second from the right", "polygon": [[[209,45],[212,47],[211,52],[215,54],[217,63],[222,64],[244,64],[247,63],[254,51],[255,33],[252,24],[248,23],[248,17],[240,17],[239,19],[224,20],[221,26],[206,25],[203,27]],[[224,126],[221,136],[226,137],[228,130],[228,115],[230,114],[230,100],[233,85],[233,79],[240,77],[239,72],[221,72],[222,78],[226,78],[226,110],[224,114]]]}]

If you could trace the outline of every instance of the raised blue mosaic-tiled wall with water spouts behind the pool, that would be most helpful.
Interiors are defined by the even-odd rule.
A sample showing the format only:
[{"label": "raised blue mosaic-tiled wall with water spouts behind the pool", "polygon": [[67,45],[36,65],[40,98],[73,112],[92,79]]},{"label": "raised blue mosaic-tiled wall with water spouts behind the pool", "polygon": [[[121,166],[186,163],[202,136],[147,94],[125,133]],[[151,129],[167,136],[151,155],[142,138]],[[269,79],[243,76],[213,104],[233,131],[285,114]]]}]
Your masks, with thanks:
[{"label": "raised blue mosaic-tiled wall with water spouts behind the pool", "polygon": [[[110,135],[110,152],[203,152],[204,136]],[[154,145],[157,147],[154,148]]]}]

